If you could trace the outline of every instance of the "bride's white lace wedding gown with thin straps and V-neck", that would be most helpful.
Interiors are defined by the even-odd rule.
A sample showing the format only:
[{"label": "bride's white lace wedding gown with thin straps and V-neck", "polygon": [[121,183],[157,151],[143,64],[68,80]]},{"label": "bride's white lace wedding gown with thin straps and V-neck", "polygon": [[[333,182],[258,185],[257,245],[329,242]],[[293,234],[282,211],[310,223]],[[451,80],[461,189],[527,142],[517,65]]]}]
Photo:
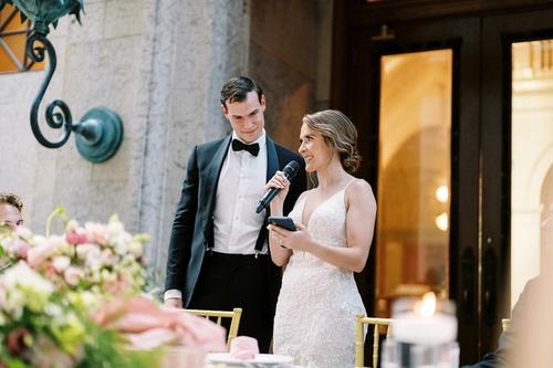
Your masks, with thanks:
[{"label": "bride's white lace wedding gown with thin straps and V-neck", "polygon": [[[345,188],[313,211],[306,228],[314,240],[346,246],[344,193]],[[307,196],[290,212],[294,222],[301,222]],[[352,271],[311,253],[295,252],[284,271],[276,303],[273,350],[294,357],[295,364],[305,368],[354,367],[358,313],[364,314],[365,307]]]}]

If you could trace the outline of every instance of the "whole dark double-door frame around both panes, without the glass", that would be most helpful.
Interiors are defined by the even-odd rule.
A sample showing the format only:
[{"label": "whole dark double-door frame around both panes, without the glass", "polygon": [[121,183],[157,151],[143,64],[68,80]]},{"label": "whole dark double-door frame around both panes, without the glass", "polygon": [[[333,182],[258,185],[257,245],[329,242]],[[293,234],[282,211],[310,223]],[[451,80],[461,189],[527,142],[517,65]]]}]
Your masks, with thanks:
[{"label": "whole dark double-door frame around both panes, without the glass", "polygon": [[[331,104],[356,123],[365,158],[359,177],[374,187],[378,55],[415,51],[416,44],[431,48],[432,40],[438,46],[462,43],[462,52],[453,51],[453,74],[461,77],[453,81],[450,232],[450,297],[457,302],[461,364],[474,362],[495,348],[499,320],[510,312],[510,141],[505,138],[510,138],[511,92],[505,91],[510,72],[502,71],[511,66],[501,50],[513,40],[511,33],[521,38],[521,32],[535,29],[535,14],[552,9],[553,1],[530,0],[455,1],[455,7],[440,0],[335,1]],[[521,12],[532,14],[526,15],[532,17],[526,30]],[[372,40],[382,35],[384,24],[394,38]],[[410,49],[401,48],[410,40],[416,41]],[[357,276],[368,313],[374,312],[375,253]]]}]

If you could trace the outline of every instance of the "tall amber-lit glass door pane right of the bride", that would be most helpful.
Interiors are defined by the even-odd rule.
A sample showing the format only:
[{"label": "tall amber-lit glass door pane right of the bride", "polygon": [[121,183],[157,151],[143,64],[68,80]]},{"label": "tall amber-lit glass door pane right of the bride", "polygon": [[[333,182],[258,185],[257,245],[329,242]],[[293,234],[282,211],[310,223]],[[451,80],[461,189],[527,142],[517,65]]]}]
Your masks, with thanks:
[{"label": "tall amber-lit glass door pane right of the bride", "polygon": [[451,49],[380,56],[376,308],[449,297]]}]

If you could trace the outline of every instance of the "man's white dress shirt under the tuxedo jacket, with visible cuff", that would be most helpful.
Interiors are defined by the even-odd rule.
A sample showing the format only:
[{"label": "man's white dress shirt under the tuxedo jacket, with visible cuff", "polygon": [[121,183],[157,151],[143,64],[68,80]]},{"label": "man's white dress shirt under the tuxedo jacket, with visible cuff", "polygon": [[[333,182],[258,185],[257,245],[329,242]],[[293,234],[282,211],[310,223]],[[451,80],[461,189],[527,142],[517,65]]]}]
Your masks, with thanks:
[{"label": "man's white dress shirt under the tuxedo jacket, with visible cuff", "polygon": [[[232,139],[239,139],[232,132]],[[241,140],[241,139],[239,139]],[[259,154],[234,151],[229,146],[217,183],[213,211],[213,251],[228,254],[254,254],[265,210],[255,213],[259,200],[265,193],[267,139],[265,130],[255,141]],[[260,253],[268,253],[267,240]],[[182,298],[179,290],[168,290],[164,299]]]}]

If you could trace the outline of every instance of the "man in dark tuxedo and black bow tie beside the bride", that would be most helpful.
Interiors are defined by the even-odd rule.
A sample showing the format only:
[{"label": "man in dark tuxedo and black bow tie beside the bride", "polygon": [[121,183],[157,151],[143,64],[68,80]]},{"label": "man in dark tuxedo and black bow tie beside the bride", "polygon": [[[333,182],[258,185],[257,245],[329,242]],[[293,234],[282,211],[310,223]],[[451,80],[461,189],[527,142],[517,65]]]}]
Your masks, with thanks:
[{"label": "man in dark tuxedo and black bow tie beside the bride", "polygon": [[190,154],[173,223],[164,299],[173,307],[241,307],[239,334],[255,337],[267,353],[281,272],[269,255],[268,213],[255,213],[255,208],[265,182],[296,160],[301,168],[284,203],[288,213],[305,189],[305,170],[300,156],[265,135],[265,96],[254,81],[229,80],[221,109],[232,134]]}]

